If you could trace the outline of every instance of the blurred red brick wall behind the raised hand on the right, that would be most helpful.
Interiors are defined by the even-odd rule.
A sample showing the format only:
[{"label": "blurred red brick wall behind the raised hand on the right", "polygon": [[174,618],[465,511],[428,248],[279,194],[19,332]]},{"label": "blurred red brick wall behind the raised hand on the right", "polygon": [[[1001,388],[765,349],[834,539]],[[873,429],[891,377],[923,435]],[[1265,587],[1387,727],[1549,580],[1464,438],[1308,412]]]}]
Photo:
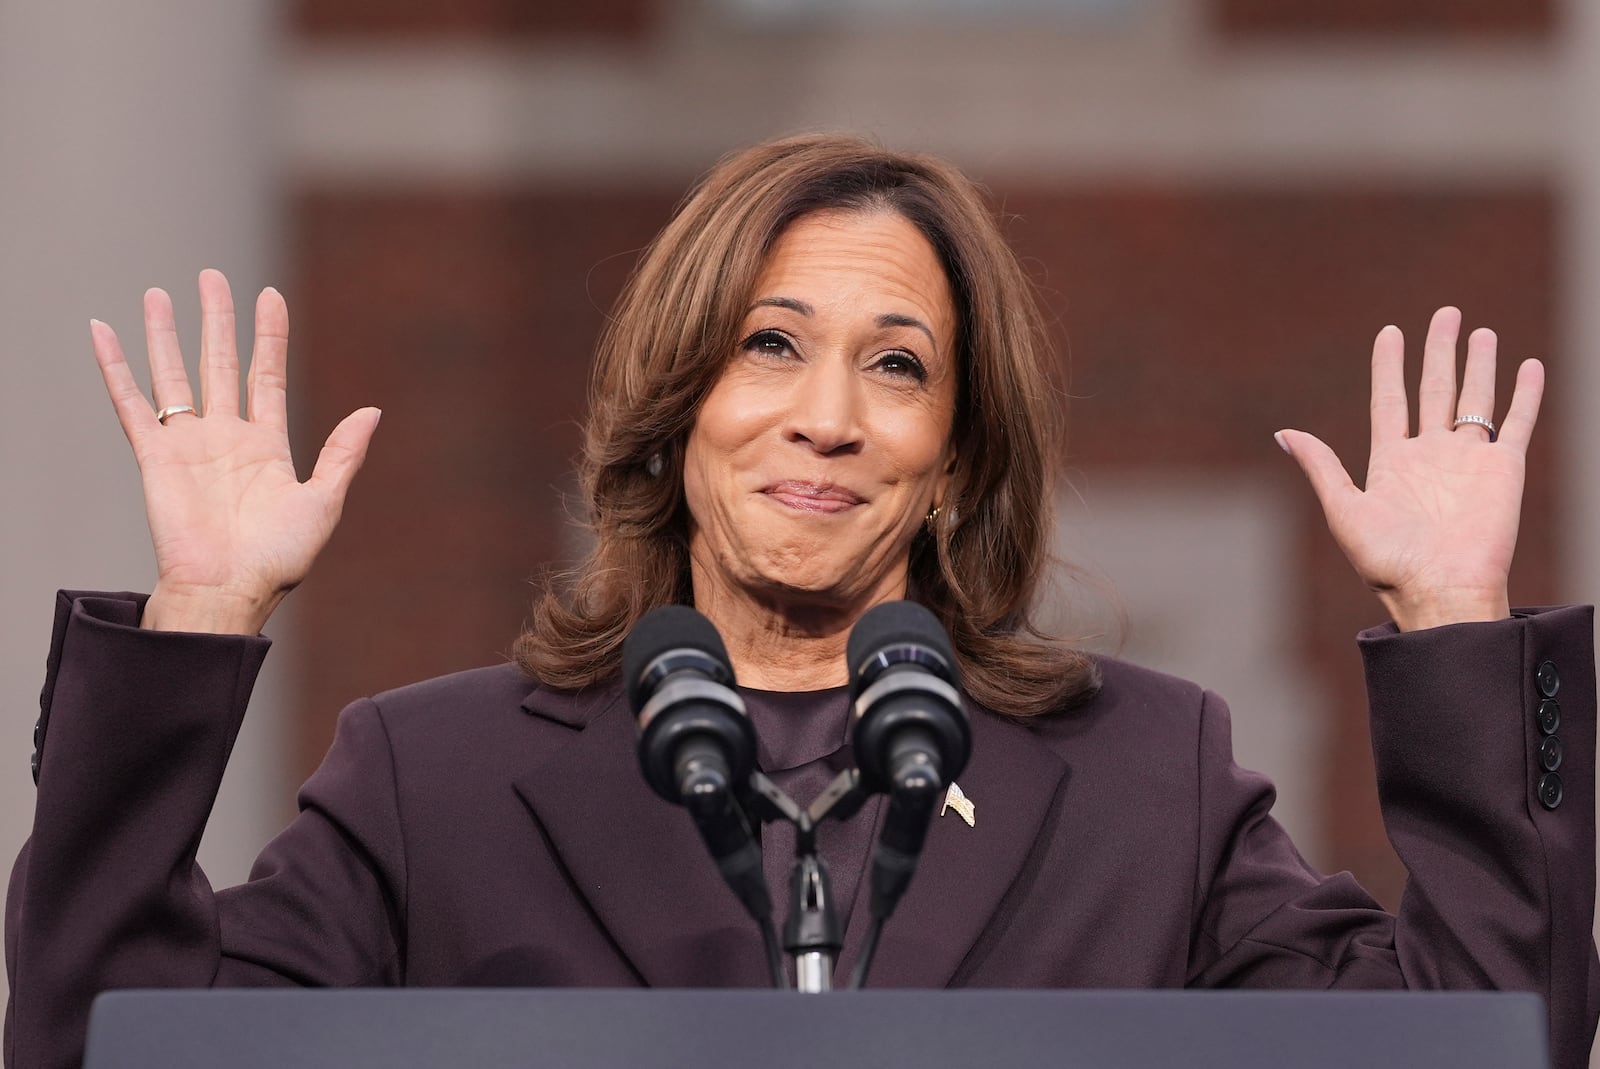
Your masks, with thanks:
[{"label": "blurred red brick wall behind the raised hand on the right", "polygon": [[[1440,304],[1499,331],[1501,413],[1517,360],[1546,358],[1558,384],[1554,197],[1147,189],[1008,194],[1005,205],[1018,216],[1013,243],[1048,272],[1070,344],[1077,466],[1099,485],[1118,469],[1202,466],[1299,494],[1301,578],[1290,597],[1306,626],[1304,685],[1336,711],[1325,839],[1334,866],[1397,903],[1403,872],[1378,813],[1352,643],[1381,610],[1270,435],[1317,434],[1362,482],[1373,334],[1389,322],[1405,330],[1414,395],[1418,346]],[[1525,605],[1557,599],[1554,424],[1546,408],[1530,453],[1512,576]]]}]

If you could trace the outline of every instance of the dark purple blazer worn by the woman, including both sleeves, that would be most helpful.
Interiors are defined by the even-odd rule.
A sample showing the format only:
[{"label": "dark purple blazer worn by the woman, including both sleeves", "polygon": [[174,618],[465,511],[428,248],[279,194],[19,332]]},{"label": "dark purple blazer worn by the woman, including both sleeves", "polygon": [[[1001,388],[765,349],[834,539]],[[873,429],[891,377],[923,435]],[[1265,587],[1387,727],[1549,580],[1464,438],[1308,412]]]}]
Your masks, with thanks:
[{"label": "dark purple blazer worn by the woman, including both sleeves", "polygon": [[[512,666],[346,709],[301,815],[213,893],[195,847],[267,643],[138,631],[139,611],[58,605],[6,901],[6,1064],[74,1064],[107,987],[765,983],[755,927],[640,778],[619,687],[558,693]],[[1082,709],[974,711],[976,826],[934,818],[874,986],[1533,991],[1555,1064],[1582,1066],[1600,1005],[1590,610],[1360,645],[1410,869],[1398,915],[1299,858],[1214,695],[1107,659]],[[858,893],[842,970],[866,928]]]}]

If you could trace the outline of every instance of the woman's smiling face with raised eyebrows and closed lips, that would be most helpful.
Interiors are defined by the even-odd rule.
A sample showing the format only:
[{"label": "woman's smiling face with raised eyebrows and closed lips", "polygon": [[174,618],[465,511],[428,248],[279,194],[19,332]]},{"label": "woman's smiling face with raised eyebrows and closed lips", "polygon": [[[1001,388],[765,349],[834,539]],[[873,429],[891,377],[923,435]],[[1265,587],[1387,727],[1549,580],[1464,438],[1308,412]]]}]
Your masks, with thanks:
[{"label": "woman's smiling face with raised eyebrows and closed lips", "polygon": [[694,600],[864,611],[904,597],[952,464],[955,307],[891,211],[819,211],[766,261],[685,453]]}]

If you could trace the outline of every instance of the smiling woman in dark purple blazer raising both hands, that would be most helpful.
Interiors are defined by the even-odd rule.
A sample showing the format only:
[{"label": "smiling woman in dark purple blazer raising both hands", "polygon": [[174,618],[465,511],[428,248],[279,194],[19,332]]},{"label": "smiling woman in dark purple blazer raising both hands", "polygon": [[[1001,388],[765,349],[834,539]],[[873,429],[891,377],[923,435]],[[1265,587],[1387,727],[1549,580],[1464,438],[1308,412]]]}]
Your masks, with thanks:
[{"label": "smiling woman in dark purple blazer raising both hands", "polygon": [[[875,984],[1538,991],[1558,1064],[1582,1064],[1590,619],[1510,616],[1542,368],[1523,365],[1496,437],[1494,336],[1469,338],[1458,397],[1453,309],[1429,330],[1414,435],[1400,334],[1378,334],[1365,491],[1314,437],[1280,435],[1395,621],[1362,639],[1411,871],[1390,917],[1294,853],[1216,696],[1030,631],[1054,397],[1029,286],[954,170],[842,138],[730,157],[645,254],[595,365],[595,549],[539,602],[518,663],[350,706],[299,818],[213,895],[194,847],[259,631],[331,533],[378,413],[339,424],[298,483],[282,298],[258,302],[240,416],[226,282],[200,290],[200,405],[165,294],[146,302],[154,405],[93,326],[160,578],[147,600],[58,605],[8,898],[11,1064],[70,1064],[90,997],[118,986],[762,984],[754,925],[638,776],[621,642],[653,607],[706,613],[762,768],[806,800],[850,762],[850,627],[906,595],[962,663],[979,811],[934,821]],[[1541,800],[1533,755],[1557,687],[1565,803]],[[840,968],[877,819],[821,843],[856,903]],[[771,880],[773,829],[765,851]]]}]

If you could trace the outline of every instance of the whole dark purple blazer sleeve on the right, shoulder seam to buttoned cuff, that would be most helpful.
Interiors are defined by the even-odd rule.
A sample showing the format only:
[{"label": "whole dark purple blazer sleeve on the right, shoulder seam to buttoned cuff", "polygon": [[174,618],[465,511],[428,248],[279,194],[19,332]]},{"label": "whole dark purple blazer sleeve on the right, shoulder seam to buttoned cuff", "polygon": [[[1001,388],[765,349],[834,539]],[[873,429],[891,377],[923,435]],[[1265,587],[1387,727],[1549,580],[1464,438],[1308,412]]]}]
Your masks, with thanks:
[{"label": "whole dark purple blazer sleeve on the right, shoulder seam to buttoned cuff", "polygon": [[1190,983],[1531,991],[1554,1064],[1586,1066],[1600,1011],[1592,610],[1379,627],[1360,650],[1384,826],[1408,872],[1398,912],[1299,858],[1208,696]]}]

